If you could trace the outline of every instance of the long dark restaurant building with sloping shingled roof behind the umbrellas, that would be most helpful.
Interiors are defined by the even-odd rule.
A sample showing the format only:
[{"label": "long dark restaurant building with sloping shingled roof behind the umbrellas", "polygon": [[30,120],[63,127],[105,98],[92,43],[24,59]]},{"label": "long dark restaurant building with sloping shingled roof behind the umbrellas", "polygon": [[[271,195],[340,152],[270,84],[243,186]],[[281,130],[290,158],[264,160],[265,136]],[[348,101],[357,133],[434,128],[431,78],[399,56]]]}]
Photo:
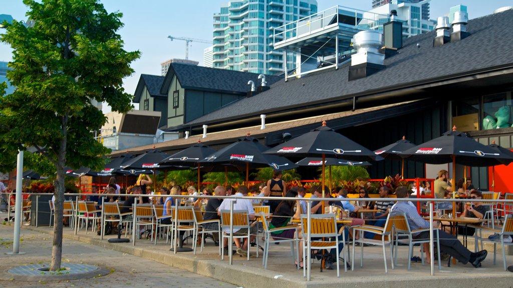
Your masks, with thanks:
[{"label": "long dark restaurant building with sloping shingled roof behind the umbrellas", "polygon": [[[239,97],[193,119],[184,118],[183,123],[169,128],[182,138],[156,147],[173,153],[201,139],[216,149],[248,131],[265,145],[274,146],[283,141],[284,133],[301,135],[319,127],[322,120],[371,150],[403,136],[420,144],[454,125],[484,145],[495,141],[513,147],[513,33],[507,29],[513,26],[513,10],[472,19],[468,24],[466,14],[461,13],[452,26],[441,19],[436,31],[407,39],[395,38],[400,33],[393,33],[393,18],[385,25],[392,27],[384,29],[383,36],[364,33],[363,42],[353,37],[351,49],[356,51],[335,49],[336,65],[320,62],[317,71],[289,75],[264,91]],[[311,48],[322,39],[319,33],[311,36],[305,35],[304,47]],[[302,48],[300,42],[289,47]],[[189,76],[195,77],[194,73]],[[114,155],[149,149],[139,147]],[[511,170],[496,168],[495,191],[513,190],[511,183],[501,183],[512,175]],[[406,161],[406,178],[435,177],[425,175],[426,171],[430,170],[424,163]],[[456,177],[462,178],[463,168],[458,171]],[[375,162],[369,172],[372,178],[395,175],[400,173],[400,162]],[[489,174],[488,168],[471,168],[470,176],[476,187],[492,190]]]}]

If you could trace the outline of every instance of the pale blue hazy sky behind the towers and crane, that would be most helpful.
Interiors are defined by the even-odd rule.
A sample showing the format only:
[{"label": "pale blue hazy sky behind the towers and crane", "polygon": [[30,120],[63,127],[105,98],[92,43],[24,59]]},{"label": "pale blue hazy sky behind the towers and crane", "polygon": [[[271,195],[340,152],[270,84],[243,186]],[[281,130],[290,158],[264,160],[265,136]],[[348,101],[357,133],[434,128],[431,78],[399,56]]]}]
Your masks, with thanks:
[{"label": "pale blue hazy sky behind the towers and crane", "polygon": [[[160,64],[171,58],[185,58],[185,42],[173,40],[168,36],[212,40],[213,14],[220,12],[219,0],[101,0],[107,12],[123,13],[125,24],[119,34],[125,42],[125,50],[142,52],[141,58],[135,60],[131,67],[132,76],[123,81],[127,93],[133,94],[141,74],[161,75]],[[333,6],[355,9],[371,9],[372,0],[317,0],[318,10]],[[2,0],[0,14],[10,14],[16,20],[26,20],[27,7],[22,0]],[[449,8],[463,4],[467,6],[469,19],[491,14],[495,9],[513,6],[513,0],[431,0],[430,17],[437,19],[449,13]],[[2,32],[0,30],[0,32]],[[189,59],[203,64],[203,50],[209,44],[194,43],[189,45]],[[0,61],[10,61],[12,50],[0,43]],[[137,104],[135,104],[137,107]],[[110,108],[104,105],[104,112]]]}]

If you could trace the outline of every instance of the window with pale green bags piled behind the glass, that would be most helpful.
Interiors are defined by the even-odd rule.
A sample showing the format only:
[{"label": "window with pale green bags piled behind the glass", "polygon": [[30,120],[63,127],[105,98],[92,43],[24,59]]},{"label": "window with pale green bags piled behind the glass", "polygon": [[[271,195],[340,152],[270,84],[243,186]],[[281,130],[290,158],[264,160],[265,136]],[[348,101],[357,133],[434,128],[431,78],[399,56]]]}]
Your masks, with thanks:
[{"label": "window with pale green bags piled behind the glass", "polygon": [[511,92],[483,97],[483,130],[513,127]]}]

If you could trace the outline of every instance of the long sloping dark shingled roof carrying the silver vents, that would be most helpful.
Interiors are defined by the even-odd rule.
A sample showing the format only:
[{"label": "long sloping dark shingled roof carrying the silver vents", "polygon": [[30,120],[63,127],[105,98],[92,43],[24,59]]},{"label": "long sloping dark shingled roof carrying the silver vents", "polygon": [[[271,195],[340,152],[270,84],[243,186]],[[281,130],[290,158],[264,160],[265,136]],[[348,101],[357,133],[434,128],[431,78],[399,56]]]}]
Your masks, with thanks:
[{"label": "long sloping dark shingled roof carrying the silver vents", "polygon": [[[468,22],[470,36],[442,47],[433,47],[436,31],[404,39],[399,53],[385,59],[386,68],[368,77],[348,81],[350,63],[338,70],[289,78],[270,90],[194,119],[184,126],[219,123],[261,113],[286,111],[320,102],[373,95],[492,70],[513,68],[513,10],[490,14]],[[419,44],[419,47],[417,47]]]}]

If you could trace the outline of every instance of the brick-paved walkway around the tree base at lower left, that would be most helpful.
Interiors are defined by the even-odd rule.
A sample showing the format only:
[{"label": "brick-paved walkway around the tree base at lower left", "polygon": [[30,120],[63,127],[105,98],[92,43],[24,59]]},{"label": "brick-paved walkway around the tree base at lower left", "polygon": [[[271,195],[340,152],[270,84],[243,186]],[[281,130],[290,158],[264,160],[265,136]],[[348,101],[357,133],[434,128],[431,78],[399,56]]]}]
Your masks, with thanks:
[{"label": "brick-paved walkway around the tree base at lower left", "polygon": [[[0,214],[2,220],[7,217],[4,215]],[[6,276],[6,271],[13,266],[50,261],[52,235],[22,229],[20,252],[26,254],[11,256],[5,253],[12,252],[12,233],[13,222],[0,221],[0,274]],[[76,240],[64,239],[63,262],[102,266],[111,273],[103,277],[59,282],[0,280],[0,287],[236,287],[166,264]]]}]

